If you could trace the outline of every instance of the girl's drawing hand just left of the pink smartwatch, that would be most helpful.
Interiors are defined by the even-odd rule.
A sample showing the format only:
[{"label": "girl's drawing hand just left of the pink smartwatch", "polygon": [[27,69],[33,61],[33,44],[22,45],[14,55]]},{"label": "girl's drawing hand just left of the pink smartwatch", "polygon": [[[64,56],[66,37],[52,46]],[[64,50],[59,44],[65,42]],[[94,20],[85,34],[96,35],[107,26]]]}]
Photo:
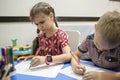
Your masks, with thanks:
[{"label": "girl's drawing hand just left of the pink smartwatch", "polygon": [[35,67],[35,66],[38,66],[38,65],[44,64],[44,63],[45,63],[45,56],[35,56],[32,58],[30,66]]}]

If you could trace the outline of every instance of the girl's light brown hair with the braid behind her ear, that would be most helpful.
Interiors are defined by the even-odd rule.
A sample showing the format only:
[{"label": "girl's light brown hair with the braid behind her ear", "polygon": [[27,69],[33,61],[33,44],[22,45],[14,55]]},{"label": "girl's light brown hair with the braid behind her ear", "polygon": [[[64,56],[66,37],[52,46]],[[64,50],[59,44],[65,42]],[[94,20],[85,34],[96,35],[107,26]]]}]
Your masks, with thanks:
[{"label": "girl's light brown hair with the braid behind her ear", "polygon": [[55,18],[55,12],[52,6],[50,4],[45,2],[39,2],[33,6],[33,8],[30,11],[30,20],[33,22],[34,17],[39,13],[44,13],[45,15],[49,15],[50,12],[54,15],[54,22],[55,25],[58,27],[57,20]]}]

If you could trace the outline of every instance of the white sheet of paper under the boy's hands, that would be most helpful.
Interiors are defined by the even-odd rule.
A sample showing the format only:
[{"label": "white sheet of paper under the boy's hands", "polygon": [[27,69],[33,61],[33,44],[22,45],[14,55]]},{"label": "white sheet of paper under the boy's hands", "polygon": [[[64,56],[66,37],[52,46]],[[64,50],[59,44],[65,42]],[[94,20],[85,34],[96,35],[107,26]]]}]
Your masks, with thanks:
[{"label": "white sheet of paper under the boy's hands", "polygon": [[[108,71],[106,69],[98,68],[98,67],[95,67],[95,66],[92,66],[92,65],[87,65],[87,64],[84,64],[84,65],[86,67],[86,71],[99,71],[99,72]],[[75,78],[77,80],[82,80],[82,75],[78,75],[78,74],[74,73],[72,71],[71,66],[62,69],[60,71],[60,73],[65,74],[65,75],[70,76],[70,77],[73,77],[73,78]]]}]

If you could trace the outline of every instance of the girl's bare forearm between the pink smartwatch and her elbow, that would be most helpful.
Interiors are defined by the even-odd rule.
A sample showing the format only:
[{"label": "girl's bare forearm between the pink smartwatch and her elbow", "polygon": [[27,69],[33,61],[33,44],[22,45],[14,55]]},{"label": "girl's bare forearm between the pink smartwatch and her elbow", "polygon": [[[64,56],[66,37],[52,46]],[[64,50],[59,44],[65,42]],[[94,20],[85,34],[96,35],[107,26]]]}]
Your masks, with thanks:
[{"label": "girl's bare forearm between the pink smartwatch and her elbow", "polygon": [[65,63],[70,62],[71,60],[71,54],[70,53],[64,53],[61,55],[52,56],[53,63]]}]

